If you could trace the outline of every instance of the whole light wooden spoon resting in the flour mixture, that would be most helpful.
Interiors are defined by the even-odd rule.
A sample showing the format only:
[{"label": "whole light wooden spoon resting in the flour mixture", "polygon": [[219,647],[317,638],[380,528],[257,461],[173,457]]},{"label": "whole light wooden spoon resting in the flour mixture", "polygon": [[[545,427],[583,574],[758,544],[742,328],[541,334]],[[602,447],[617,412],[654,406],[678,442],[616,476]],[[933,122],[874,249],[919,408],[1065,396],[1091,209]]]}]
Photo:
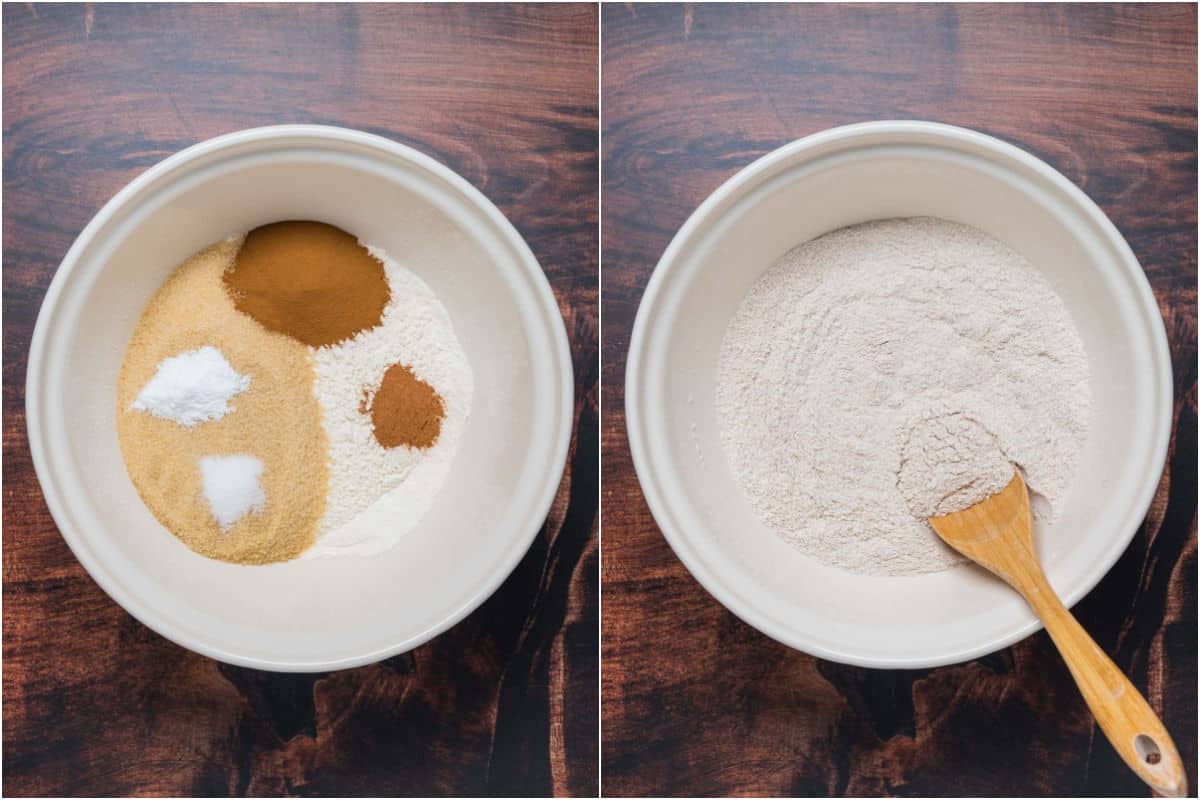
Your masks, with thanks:
[{"label": "whole light wooden spoon resting in the flour mixture", "polygon": [[1014,470],[1000,494],[929,524],[947,545],[1021,593],[1050,633],[1087,708],[1124,763],[1150,788],[1169,798],[1187,794],[1188,778],[1175,742],[1158,716],[1097,646],[1046,581],[1033,549],[1030,494]]}]

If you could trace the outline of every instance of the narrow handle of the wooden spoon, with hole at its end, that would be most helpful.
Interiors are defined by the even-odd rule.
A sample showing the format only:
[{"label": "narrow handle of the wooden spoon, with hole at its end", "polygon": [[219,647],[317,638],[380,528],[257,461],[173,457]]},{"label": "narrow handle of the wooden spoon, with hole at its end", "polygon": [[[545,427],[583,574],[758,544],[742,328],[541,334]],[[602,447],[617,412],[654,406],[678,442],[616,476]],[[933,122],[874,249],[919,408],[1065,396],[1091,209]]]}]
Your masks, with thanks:
[{"label": "narrow handle of the wooden spoon, with hole at its end", "polygon": [[1183,762],[1158,715],[1067,610],[1042,570],[1025,577],[1026,585],[1016,588],[1042,618],[1114,750],[1150,788],[1169,798],[1184,796]]}]

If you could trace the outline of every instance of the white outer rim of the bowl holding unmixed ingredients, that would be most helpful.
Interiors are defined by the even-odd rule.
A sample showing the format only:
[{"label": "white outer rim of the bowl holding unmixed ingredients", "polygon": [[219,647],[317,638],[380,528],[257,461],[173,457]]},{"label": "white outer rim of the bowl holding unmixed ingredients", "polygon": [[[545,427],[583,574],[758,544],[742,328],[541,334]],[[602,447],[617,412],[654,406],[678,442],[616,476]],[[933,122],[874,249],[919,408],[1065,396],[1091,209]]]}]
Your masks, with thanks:
[{"label": "white outer rim of the bowl holding unmixed ingredients", "polygon": [[[553,457],[541,467],[544,476],[540,485],[522,521],[514,529],[520,535],[514,536],[504,559],[497,561],[488,579],[467,593],[466,600],[455,610],[424,631],[383,648],[335,658],[274,660],[234,652],[185,633],[168,616],[149,608],[136,595],[126,591],[108,573],[102,559],[95,557],[91,549],[85,546],[84,540],[89,535],[76,529],[68,511],[71,505],[71,501],[67,500],[68,493],[62,492],[62,487],[59,486],[58,475],[53,467],[54,458],[47,452],[46,437],[42,431],[43,419],[40,401],[46,348],[55,318],[61,308],[65,287],[76,271],[80,255],[91,246],[96,236],[126,210],[131,200],[143,196],[152,197],[163,185],[169,185],[170,181],[188,174],[197,162],[208,162],[212,157],[220,157],[222,151],[233,151],[235,157],[246,146],[260,148],[270,145],[272,142],[288,146],[350,146],[359,152],[367,152],[379,158],[398,160],[430,174],[434,180],[442,181],[464,205],[474,206],[476,211],[482,212],[493,225],[493,231],[511,248],[517,267],[528,282],[524,288],[518,290],[529,291],[532,289],[530,311],[533,313],[526,317],[524,321],[540,321],[540,327],[548,332],[552,338],[550,342],[552,363],[550,366],[558,375],[557,381],[547,380],[541,390],[550,397],[551,407],[557,407],[557,419],[544,421],[557,427],[552,443]],[[88,222],[60,261],[37,313],[26,360],[25,428],[34,470],[59,533],[92,581],[138,621],[180,646],[226,663],[272,672],[330,672],[374,663],[425,644],[475,610],[508,579],[540,533],[562,482],[571,440],[575,413],[574,397],[574,366],[566,326],[550,281],[526,240],[482,192],[436,158],[374,133],[330,125],[272,125],[224,133],[198,142],[168,156],[126,184]]]}]

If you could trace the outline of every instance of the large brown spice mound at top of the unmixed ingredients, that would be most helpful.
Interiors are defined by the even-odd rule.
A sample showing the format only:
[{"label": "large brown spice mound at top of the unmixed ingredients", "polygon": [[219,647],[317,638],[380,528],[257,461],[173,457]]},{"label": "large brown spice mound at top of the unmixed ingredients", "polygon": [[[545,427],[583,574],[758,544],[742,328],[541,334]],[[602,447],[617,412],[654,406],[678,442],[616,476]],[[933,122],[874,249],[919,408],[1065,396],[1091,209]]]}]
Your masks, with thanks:
[{"label": "large brown spice mound at top of the unmixed ingredients", "polygon": [[391,297],[383,264],[323,222],[254,228],[223,278],[238,311],[310,347],[377,326]]}]

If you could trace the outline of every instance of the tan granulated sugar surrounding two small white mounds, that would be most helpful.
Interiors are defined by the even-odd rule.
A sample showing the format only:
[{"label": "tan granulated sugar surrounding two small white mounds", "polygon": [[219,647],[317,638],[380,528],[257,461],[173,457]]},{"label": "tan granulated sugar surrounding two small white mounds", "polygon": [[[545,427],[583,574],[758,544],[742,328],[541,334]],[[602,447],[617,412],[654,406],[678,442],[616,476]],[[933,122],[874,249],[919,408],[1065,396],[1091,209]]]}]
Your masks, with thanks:
[{"label": "tan granulated sugar surrounding two small white mounds", "polygon": [[[269,564],[300,555],[316,540],[329,446],[312,350],[239,314],[222,285],[236,252],[236,240],[200,251],[150,300],[121,365],[116,433],[133,486],[168,530],[209,558]],[[251,378],[229,414],[187,428],[130,408],[163,359],[209,345]],[[234,453],[263,463],[266,501],[222,530],[204,498],[199,462]]]}]

